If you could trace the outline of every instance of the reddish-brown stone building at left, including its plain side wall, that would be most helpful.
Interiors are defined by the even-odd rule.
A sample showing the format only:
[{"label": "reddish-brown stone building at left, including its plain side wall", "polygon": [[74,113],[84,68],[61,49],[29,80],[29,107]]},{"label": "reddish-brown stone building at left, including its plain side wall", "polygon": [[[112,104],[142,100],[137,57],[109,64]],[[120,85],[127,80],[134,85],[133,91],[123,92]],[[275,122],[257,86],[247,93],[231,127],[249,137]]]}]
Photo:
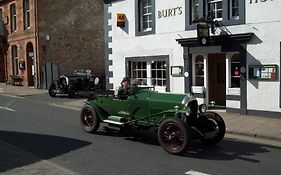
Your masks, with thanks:
[{"label": "reddish-brown stone building at left, including its plain side wall", "polygon": [[1,0],[4,81],[18,76],[24,86],[48,88],[76,69],[104,75],[103,7],[102,0]]}]

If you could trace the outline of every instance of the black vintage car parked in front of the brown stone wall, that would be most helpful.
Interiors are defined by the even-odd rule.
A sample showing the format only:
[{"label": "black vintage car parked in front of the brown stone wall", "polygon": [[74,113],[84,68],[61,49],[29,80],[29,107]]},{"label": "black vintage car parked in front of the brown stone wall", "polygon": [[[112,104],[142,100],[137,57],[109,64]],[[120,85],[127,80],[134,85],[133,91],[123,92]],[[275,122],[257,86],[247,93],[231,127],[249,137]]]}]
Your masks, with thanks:
[{"label": "black vintage car parked in front of the brown stone wall", "polygon": [[94,91],[104,89],[104,86],[104,77],[93,76],[89,70],[75,70],[69,76],[61,75],[48,90],[51,97],[55,97],[57,94],[67,94],[72,98],[79,91]]}]

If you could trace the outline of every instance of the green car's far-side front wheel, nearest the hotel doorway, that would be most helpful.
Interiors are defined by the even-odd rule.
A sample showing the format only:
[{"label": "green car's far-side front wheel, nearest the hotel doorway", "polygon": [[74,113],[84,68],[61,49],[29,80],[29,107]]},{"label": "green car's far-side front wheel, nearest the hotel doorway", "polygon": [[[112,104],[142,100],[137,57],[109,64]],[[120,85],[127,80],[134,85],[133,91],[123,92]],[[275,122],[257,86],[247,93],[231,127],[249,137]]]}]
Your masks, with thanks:
[{"label": "green car's far-side front wheel, nearest the hotel doorway", "polygon": [[214,112],[206,112],[204,114],[206,121],[202,128],[205,136],[201,138],[204,144],[214,145],[220,142],[225,134],[225,123],[223,118]]}]

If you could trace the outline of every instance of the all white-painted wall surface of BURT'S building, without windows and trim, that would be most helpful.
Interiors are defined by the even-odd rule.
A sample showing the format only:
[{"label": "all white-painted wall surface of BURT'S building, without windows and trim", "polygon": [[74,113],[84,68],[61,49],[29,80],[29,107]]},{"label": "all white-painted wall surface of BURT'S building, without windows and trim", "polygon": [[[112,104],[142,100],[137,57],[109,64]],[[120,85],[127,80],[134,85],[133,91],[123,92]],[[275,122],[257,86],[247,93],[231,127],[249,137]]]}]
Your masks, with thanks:
[{"label": "all white-painted wall surface of BURT'S building, without windows and trim", "polygon": [[[255,0],[253,0],[255,1]],[[125,75],[125,57],[169,55],[170,66],[183,65],[183,48],[176,42],[180,34],[183,38],[196,37],[196,31],[185,31],[185,0],[156,0],[156,34],[135,37],[135,6],[134,0],[118,1],[109,8],[112,13],[112,36],[113,54],[109,59],[113,60],[114,88],[119,86]],[[267,0],[266,2],[250,4],[245,0],[246,24],[227,26],[232,34],[249,33],[255,34],[247,46],[248,65],[253,64],[277,64],[280,71],[280,42],[281,42],[281,0]],[[158,11],[169,8],[182,7],[182,14],[176,12],[175,16],[159,18]],[[125,13],[127,28],[116,26],[116,14]],[[218,31],[219,32],[219,31]],[[252,110],[276,111],[279,108],[280,77],[278,81],[247,80],[247,106]],[[172,92],[184,92],[184,78],[170,76],[170,88]],[[239,90],[238,90],[239,91]],[[227,94],[234,95],[236,89],[227,89]],[[227,106],[239,108],[240,102],[227,101]]]}]

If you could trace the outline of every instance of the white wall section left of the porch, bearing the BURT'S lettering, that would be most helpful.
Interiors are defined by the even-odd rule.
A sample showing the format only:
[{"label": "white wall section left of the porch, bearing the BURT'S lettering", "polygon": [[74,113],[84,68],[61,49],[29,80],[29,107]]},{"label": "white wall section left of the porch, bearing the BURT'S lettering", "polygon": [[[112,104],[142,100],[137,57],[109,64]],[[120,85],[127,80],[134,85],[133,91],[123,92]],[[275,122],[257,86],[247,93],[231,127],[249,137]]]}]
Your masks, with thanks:
[{"label": "white wall section left of the porch, bearing the BURT'S lettering", "polygon": [[[109,12],[112,13],[112,20],[109,24],[112,25],[112,48],[113,54],[109,59],[113,60],[113,66],[110,70],[113,71],[113,78],[110,83],[113,83],[114,88],[117,88],[125,76],[125,57],[138,56],[156,56],[169,55],[170,66],[179,66],[184,64],[183,48],[176,42],[180,38],[179,33],[184,32],[185,9],[184,0],[165,0],[155,2],[155,19],[156,19],[156,34],[135,37],[135,6],[134,1],[118,1],[113,3]],[[172,9],[169,17],[159,18],[159,12]],[[169,14],[169,10],[167,10]],[[127,26],[119,28],[116,26],[117,13],[126,14]],[[172,28],[170,26],[173,26]],[[169,68],[170,71],[170,68]],[[170,90],[173,92],[184,92],[184,78],[170,76]]]}]

